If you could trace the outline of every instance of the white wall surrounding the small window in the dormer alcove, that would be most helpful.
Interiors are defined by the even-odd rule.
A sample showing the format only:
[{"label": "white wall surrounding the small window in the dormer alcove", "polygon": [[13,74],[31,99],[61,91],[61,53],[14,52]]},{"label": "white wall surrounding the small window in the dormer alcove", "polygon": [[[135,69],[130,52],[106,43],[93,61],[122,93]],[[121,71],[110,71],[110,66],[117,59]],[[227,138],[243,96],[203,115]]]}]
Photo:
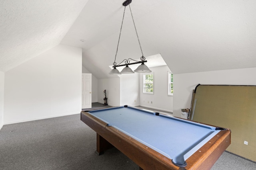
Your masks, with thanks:
[{"label": "white wall surrounding the small window in the dormer alcove", "polygon": [[140,106],[172,112],[173,96],[168,96],[170,69],[168,66],[159,66],[152,67],[150,70],[154,73],[154,94],[143,94],[143,74],[140,74]]}]

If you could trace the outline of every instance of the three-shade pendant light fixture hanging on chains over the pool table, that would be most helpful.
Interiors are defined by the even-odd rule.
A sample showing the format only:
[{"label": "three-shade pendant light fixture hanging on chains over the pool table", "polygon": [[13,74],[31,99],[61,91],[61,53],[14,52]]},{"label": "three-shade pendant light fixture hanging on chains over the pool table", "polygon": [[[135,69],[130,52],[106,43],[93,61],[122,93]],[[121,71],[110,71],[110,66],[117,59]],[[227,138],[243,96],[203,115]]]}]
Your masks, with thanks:
[{"label": "three-shade pendant light fixture hanging on chains over the pool table", "polygon": [[[124,6],[124,14],[125,14],[125,8],[126,6],[129,5],[129,8],[130,8],[130,12],[131,12],[131,16],[132,16],[132,10],[131,10],[131,7],[130,7],[130,3],[132,2],[132,0],[126,0],[124,1],[123,3],[123,6]],[[118,51],[118,45],[119,45],[119,41],[120,41],[120,36],[121,36],[121,31],[122,31],[122,26],[123,26],[123,21],[124,21],[124,14],[123,14],[123,19],[122,19],[122,24],[121,24],[121,28],[120,28],[120,33],[119,33],[119,38],[118,38],[118,43],[117,43],[117,48],[116,48],[116,55],[117,55],[117,51]],[[135,31],[136,31],[136,35],[137,35],[137,38],[138,38],[138,42],[139,42],[139,45],[140,45],[140,40],[139,40],[139,37],[138,37],[138,33],[137,33],[137,29],[136,29],[136,26],[135,26],[135,23],[134,23],[134,19],[133,19],[133,16],[132,16],[132,21],[133,21],[133,25],[134,25],[134,28],[135,28]],[[134,59],[124,59],[121,63],[117,64],[116,63],[116,56],[115,56],[115,61],[113,63],[113,69],[108,73],[108,74],[132,74],[134,72],[140,72],[140,73],[143,73],[143,72],[151,72],[151,70],[144,64],[146,63],[146,58],[143,56],[143,52],[142,52],[142,48],[141,48],[141,45],[140,45],[140,51],[142,53],[142,57],[140,57],[140,60],[141,61],[136,61]],[[130,61],[134,61],[134,63],[130,63]],[[122,64],[122,63],[125,63],[125,64]],[[134,72],[132,71],[132,69],[128,66],[128,65],[132,65],[132,64],[140,64],[140,66],[138,66],[138,68],[136,68],[136,70],[134,70]],[[124,69],[119,72],[116,67],[119,67],[119,66],[125,66]]]}]

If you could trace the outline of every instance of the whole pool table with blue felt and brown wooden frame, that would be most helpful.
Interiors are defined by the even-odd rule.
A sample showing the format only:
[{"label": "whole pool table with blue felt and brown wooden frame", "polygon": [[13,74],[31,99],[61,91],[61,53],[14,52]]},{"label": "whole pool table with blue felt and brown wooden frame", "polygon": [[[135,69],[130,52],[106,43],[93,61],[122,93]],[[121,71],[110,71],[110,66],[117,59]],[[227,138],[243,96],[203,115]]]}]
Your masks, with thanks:
[{"label": "whole pool table with blue felt and brown wooden frame", "polygon": [[82,111],[97,152],[116,147],[144,170],[208,170],[230,145],[229,129],[131,106]]}]

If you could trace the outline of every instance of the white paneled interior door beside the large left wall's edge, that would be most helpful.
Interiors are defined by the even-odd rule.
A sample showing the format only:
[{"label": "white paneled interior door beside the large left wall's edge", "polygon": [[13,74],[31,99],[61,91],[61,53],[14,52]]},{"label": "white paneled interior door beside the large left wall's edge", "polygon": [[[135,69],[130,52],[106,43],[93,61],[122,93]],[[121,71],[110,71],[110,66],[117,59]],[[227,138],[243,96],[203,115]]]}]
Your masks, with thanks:
[{"label": "white paneled interior door beside the large left wall's edge", "polygon": [[92,108],[92,74],[82,73],[82,109]]}]

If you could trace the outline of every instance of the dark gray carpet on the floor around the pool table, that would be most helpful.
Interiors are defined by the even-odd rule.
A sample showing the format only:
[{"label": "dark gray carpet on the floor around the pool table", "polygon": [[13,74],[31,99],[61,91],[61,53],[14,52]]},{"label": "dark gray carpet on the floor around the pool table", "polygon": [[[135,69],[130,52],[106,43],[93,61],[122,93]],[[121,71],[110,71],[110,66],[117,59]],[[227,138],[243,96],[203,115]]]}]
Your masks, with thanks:
[{"label": "dark gray carpet on the floor around the pool table", "polygon": [[[98,156],[96,133],[80,114],[4,125],[0,170],[138,170],[113,148]],[[212,170],[256,170],[256,163],[224,152]]]}]

